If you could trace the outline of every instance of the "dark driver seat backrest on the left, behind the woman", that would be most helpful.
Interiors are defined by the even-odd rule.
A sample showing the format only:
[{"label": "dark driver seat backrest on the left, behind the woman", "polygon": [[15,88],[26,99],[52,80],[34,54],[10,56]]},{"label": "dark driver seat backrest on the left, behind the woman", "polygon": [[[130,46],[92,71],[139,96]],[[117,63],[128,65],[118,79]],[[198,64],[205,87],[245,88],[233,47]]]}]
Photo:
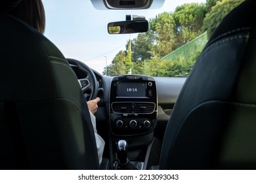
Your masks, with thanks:
[{"label": "dark driver seat backrest on the left, behind the woman", "polygon": [[0,169],[98,169],[89,110],[54,44],[0,11]]}]

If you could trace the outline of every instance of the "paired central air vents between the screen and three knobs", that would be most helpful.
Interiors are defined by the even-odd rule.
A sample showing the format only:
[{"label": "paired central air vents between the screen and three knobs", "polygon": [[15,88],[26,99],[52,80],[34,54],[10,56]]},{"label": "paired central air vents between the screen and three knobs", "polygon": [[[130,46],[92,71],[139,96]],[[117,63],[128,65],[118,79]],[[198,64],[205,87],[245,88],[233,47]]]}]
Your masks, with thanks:
[{"label": "paired central air vents between the screen and three knobs", "polygon": [[121,114],[152,114],[154,103],[112,103],[112,110]]}]

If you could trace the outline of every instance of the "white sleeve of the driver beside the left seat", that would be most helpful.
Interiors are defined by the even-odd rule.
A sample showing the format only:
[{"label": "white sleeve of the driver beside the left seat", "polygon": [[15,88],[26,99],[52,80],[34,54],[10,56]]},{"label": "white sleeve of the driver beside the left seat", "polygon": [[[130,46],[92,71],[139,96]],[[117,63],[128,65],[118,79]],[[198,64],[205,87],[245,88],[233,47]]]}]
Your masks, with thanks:
[{"label": "white sleeve of the driver beside the left seat", "polygon": [[102,154],[103,154],[104,146],[105,146],[105,141],[97,133],[95,115],[93,115],[93,113],[91,113],[91,111],[89,111],[89,112],[90,112],[90,116],[91,116],[91,122],[93,124],[93,131],[95,131],[95,140],[96,140],[96,146],[97,146],[97,151],[98,151],[98,162],[101,163]]}]

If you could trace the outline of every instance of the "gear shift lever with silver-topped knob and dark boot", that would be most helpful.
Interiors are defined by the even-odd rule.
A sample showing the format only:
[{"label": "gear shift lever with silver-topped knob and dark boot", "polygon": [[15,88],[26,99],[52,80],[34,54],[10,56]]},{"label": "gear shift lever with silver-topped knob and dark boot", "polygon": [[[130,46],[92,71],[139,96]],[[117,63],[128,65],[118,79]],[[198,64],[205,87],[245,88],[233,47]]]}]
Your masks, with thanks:
[{"label": "gear shift lever with silver-topped knob and dark boot", "polygon": [[118,158],[118,164],[120,166],[125,166],[128,163],[127,159],[127,150],[128,150],[128,144],[124,140],[120,140],[117,142],[117,158]]}]

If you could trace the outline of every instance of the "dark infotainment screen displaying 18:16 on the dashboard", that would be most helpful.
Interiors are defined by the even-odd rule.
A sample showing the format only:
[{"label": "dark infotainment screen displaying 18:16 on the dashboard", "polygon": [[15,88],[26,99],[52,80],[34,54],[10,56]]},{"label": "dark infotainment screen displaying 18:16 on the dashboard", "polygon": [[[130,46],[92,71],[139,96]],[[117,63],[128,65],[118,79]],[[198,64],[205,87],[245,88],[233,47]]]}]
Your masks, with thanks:
[{"label": "dark infotainment screen displaying 18:16 on the dashboard", "polygon": [[118,82],[117,97],[146,97],[146,83]]}]

